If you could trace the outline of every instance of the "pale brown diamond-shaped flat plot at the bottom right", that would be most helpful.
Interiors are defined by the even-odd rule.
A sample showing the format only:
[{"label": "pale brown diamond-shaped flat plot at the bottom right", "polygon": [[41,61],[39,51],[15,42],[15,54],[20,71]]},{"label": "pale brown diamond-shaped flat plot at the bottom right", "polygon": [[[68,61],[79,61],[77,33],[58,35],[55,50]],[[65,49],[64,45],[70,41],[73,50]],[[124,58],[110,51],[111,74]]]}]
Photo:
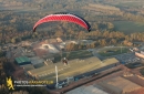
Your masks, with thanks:
[{"label": "pale brown diamond-shaped flat plot at the bottom right", "polygon": [[112,91],[113,94],[127,94],[132,91],[142,88],[141,85],[135,84],[121,76],[116,76],[116,77],[113,77],[110,80],[102,81],[99,83],[99,85],[106,88],[107,91]]}]

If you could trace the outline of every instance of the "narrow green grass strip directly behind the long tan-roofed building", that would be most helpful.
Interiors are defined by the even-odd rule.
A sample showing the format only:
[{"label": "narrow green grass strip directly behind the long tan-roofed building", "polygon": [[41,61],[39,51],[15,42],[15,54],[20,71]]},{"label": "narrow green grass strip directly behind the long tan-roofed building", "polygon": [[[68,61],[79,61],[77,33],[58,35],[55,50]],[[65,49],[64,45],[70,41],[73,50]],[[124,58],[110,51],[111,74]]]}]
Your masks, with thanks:
[{"label": "narrow green grass strip directly behind the long tan-roofed building", "polygon": [[82,58],[91,58],[93,56],[92,52],[89,51],[70,51],[63,52],[54,55],[54,62],[61,61],[62,58],[68,58],[69,60],[72,59],[82,59]]}]

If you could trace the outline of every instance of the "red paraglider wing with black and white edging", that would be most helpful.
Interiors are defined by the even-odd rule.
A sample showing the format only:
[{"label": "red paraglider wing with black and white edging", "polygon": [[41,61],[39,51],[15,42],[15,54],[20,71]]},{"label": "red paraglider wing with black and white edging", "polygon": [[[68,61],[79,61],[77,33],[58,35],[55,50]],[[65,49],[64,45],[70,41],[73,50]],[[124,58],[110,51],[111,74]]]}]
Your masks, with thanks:
[{"label": "red paraglider wing with black and white edging", "polygon": [[51,21],[69,21],[69,22],[73,22],[76,24],[80,24],[81,27],[85,28],[86,30],[90,31],[90,24],[82,18],[75,15],[75,14],[70,14],[70,13],[65,13],[65,14],[50,14],[47,15],[42,19],[40,19],[33,27],[33,32],[35,31],[35,28],[39,24],[42,24],[44,22],[51,22]]}]

